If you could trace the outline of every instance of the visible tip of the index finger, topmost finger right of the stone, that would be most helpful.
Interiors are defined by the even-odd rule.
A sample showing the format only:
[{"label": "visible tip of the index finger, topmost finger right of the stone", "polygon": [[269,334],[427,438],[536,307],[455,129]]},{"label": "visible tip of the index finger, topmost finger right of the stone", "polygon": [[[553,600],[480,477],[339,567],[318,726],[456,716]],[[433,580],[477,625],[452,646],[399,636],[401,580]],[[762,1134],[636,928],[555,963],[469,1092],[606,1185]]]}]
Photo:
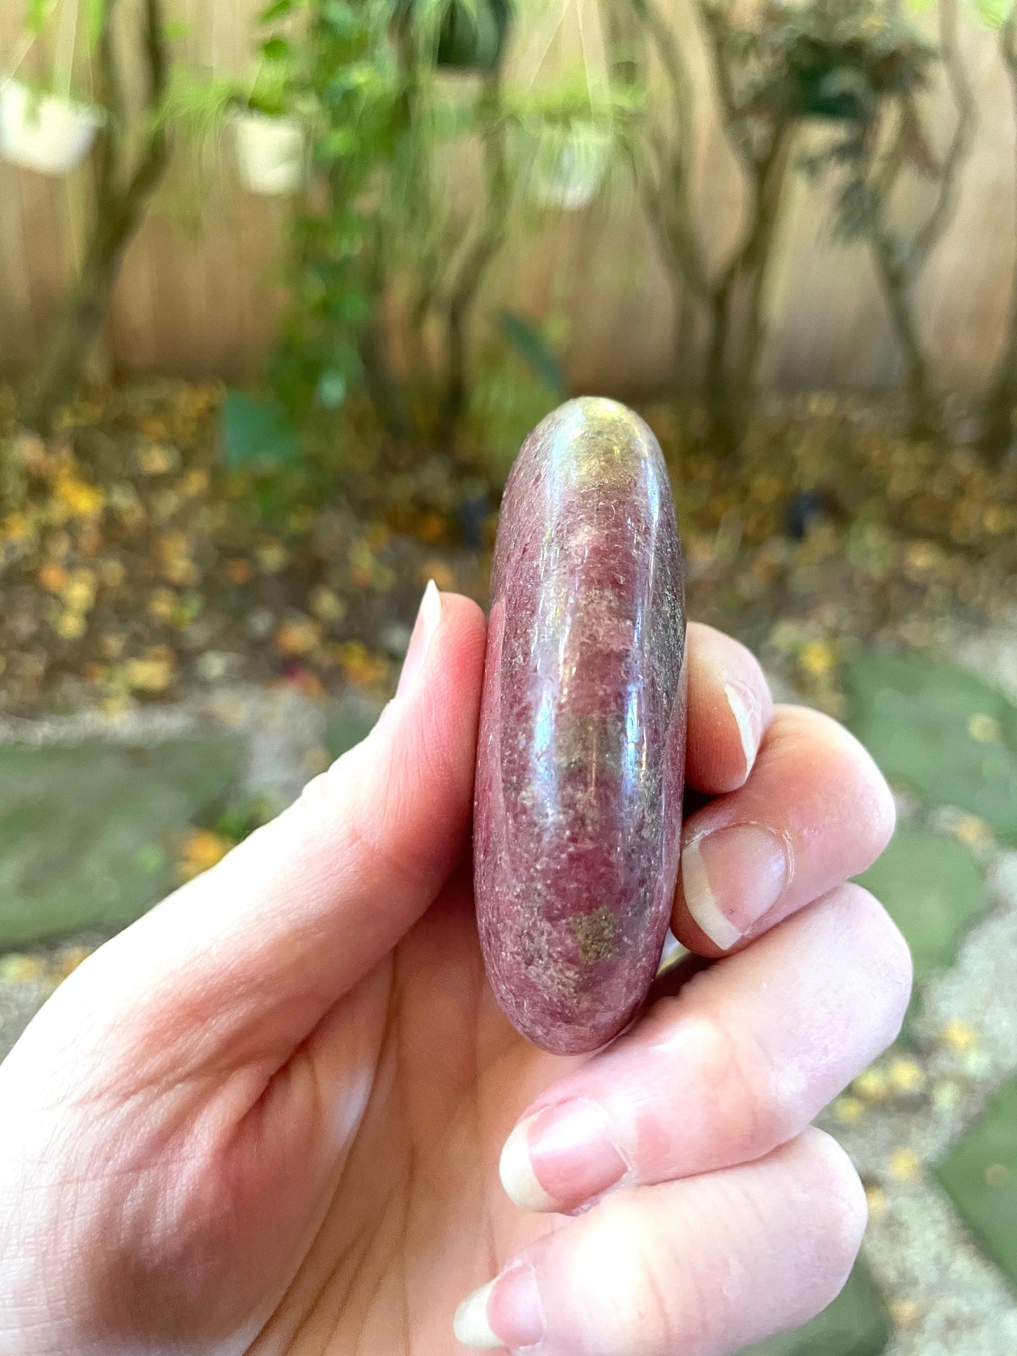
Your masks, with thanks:
[{"label": "visible tip of the index finger, topmost finger right of the stone", "polygon": [[689,730],[685,776],[694,791],[738,791],[773,719],[759,660],[738,640],[689,622]]}]

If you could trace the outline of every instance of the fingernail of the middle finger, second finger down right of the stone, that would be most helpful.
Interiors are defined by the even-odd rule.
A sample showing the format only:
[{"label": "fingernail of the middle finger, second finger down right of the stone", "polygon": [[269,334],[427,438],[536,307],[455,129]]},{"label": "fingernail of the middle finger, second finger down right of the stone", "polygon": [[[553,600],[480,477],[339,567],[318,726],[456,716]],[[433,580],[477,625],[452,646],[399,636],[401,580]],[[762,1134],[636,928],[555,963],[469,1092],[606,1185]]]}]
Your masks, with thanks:
[{"label": "fingernail of the middle finger, second finger down right of the stone", "polygon": [[791,843],[765,824],[717,829],[682,849],[685,903],[721,951],[773,909],[791,873]]}]

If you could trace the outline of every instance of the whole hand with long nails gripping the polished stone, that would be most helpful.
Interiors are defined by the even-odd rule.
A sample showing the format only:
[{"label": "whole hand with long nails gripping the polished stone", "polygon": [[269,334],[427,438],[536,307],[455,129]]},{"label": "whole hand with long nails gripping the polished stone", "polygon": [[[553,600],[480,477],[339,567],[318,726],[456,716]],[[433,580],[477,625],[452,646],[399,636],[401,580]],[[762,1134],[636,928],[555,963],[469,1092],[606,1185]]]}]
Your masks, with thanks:
[{"label": "whole hand with long nails gripping the polished stone", "polygon": [[477,949],[483,650],[480,610],[430,590],[367,739],[91,956],[3,1064],[7,1356],[450,1356],[492,1277],[456,1319],[473,1347],[716,1356],[837,1294],[864,1196],[808,1123],[910,983],[843,884],[890,837],[883,780],[690,628],[705,803],[675,928],[734,953],[557,1059]]}]

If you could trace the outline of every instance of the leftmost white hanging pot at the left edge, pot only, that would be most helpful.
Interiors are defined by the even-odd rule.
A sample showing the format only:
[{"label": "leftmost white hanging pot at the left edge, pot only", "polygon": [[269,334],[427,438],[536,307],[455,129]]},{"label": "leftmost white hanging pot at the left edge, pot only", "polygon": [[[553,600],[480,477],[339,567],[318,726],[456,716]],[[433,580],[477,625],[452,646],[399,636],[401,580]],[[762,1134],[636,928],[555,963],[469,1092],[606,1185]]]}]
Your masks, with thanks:
[{"label": "leftmost white hanging pot at the left edge, pot only", "polygon": [[39,174],[69,174],[81,164],[106,114],[88,103],[37,95],[20,80],[0,84],[0,155]]}]

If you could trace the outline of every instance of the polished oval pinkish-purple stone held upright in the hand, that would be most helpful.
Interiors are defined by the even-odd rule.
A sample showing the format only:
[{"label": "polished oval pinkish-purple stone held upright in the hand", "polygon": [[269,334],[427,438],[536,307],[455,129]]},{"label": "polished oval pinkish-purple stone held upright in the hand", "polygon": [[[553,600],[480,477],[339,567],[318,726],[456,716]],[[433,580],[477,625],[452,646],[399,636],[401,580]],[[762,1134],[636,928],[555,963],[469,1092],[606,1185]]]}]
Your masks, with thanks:
[{"label": "polished oval pinkish-purple stone held upright in the hand", "polygon": [[685,597],[660,447],[570,400],[506,487],[473,819],[480,941],[534,1044],[597,1050],[654,979],[678,872]]}]

